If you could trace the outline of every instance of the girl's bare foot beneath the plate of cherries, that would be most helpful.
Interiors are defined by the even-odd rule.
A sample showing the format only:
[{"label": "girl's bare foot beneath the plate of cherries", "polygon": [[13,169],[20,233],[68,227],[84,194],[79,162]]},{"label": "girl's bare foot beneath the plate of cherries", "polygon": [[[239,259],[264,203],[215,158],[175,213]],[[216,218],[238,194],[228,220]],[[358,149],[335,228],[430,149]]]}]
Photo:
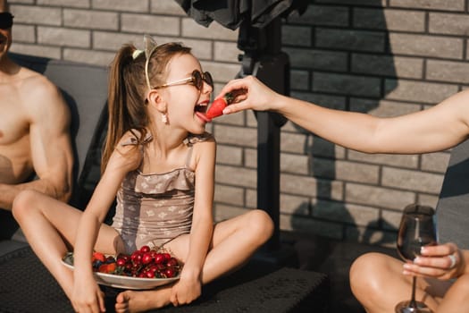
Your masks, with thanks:
[{"label": "girl's bare foot beneath the plate of cherries", "polygon": [[171,304],[170,296],[171,287],[167,286],[162,289],[146,292],[133,292],[129,290],[121,292],[115,299],[115,312],[134,313],[163,308]]}]

